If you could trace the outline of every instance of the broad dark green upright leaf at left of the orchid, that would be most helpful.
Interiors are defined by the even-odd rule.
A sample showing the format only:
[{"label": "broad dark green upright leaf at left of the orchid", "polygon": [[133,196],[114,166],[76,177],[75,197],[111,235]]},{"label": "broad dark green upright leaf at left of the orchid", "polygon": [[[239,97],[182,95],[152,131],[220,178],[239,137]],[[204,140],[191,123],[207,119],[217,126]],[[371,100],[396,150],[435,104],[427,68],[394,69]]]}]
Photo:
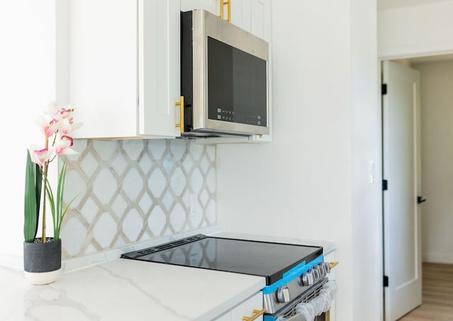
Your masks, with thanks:
[{"label": "broad dark green upright leaf at left of the orchid", "polygon": [[25,242],[33,242],[38,232],[38,217],[40,212],[42,177],[40,168],[33,163],[27,151],[25,167],[25,199],[23,235]]}]

